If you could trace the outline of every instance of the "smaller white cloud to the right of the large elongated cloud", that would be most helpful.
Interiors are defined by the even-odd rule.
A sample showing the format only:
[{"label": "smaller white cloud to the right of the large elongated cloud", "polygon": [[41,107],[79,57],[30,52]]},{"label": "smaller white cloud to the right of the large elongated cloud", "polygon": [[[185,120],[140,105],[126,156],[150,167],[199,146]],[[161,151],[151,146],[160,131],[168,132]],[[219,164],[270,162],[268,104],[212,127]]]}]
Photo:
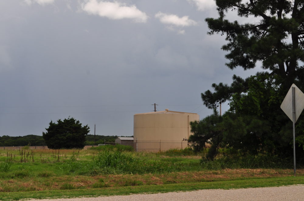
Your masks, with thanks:
[{"label": "smaller white cloud to the right of the large elongated cloud", "polygon": [[159,18],[161,23],[167,24],[167,25],[184,27],[184,26],[193,26],[193,25],[197,24],[196,21],[189,19],[189,16],[183,16],[180,18],[177,15],[158,12],[157,14],[155,14],[155,17]]}]

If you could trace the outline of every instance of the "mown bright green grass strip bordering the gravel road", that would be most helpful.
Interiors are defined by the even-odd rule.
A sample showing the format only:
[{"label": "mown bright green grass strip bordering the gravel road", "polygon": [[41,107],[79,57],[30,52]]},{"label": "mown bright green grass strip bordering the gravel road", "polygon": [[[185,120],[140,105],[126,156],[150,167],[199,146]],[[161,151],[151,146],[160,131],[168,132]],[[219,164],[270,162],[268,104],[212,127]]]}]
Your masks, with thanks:
[{"label": "mown bright green grass strip bordering the gravel road", "polygon": [[[233,180],[200,183],[173,183],[164,185],[130,185],[125,187],[106,187],[93,189],[68,189],[35,192],[0,193],[0,200],[75,198],[138,193],[167,193],[174,191],[192,191],[199,189],[238,189],[304,184],[304,177],[280,177],[269,179]],[[68,188],[70,186],[67,186]]]}]

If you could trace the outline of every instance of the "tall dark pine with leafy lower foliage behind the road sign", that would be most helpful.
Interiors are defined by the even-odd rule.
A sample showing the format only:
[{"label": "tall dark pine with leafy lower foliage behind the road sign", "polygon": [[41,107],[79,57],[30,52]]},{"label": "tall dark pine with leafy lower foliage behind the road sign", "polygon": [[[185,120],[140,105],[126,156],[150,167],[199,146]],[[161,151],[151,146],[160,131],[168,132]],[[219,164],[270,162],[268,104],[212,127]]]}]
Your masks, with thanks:
[{"label": "tall dark pine with leafy lower foliage behind the road sign", "polygon": [[[228,43],[222,49],[228,52],[228,68],[247,70],[261,61],[267,71],[245,79],[234,75],[231,85],[212,84],[214,92],[202,93],[208,108],[229,101],[230,110],[222,117],[212,115],[192,123],[192,130],[197,131],[193,143],[198,146],[196,137],[201,136],[215,147],[231,147],[243,153],[291,155],[292,123],[280,104],[292,83],[304,87],[304,0],[216,0],[216,5],[219,18],[206,18],[206,22],[210,35],[226,36]],[[230,22],[226,19],[229,12],[255,18],[244,24]],[[214,118],[218,119],[216,126],[209,124]],[[297,122],[297,157],[304,156],[303,125],[301,115]],[[203,127],[208,129],[200,129]],[[207,139],[212,133],[219,142],[214,141],[215,136]]]}]

